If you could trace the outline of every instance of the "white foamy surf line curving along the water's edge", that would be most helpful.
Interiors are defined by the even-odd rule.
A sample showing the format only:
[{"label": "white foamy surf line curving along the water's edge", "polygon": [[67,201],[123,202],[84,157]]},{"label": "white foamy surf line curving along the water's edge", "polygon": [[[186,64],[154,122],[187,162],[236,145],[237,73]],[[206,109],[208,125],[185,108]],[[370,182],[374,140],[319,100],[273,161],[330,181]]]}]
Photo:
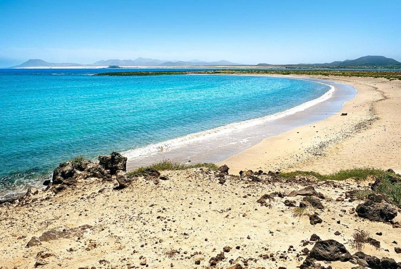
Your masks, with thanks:
[{"label": "white foamy surf line curving along the water's edge", "polygon": [[[208,74],[202,74],[202,75],[208,75]],[[261,75],[261,76],[264,77],[264,75]],[[164,142],[159,142],[159,143],[143,146],[140,148],[127,150],[126,152],[123,152],[123,155],[126,156],[127,158],[131,159],[131,158],[136,158],[139,156],[144,156],[144,155],[148,155],[148,154],[152,154],[152,153],[166,152],[168,150],[172,150],[173,148],[177,148],[177,147],[183,146],[185,144],[189,144],[192,142],[198,142],[198,141],[216,137],[216,136],[221,136],[221,135],[224,135],[227,133],[232,133],[233,131],[237,131],[237,130],[245,129],[247,127],[252,127],[252,126],[255,126],[255,125],[258,125],[261,123],[265,123],[267,121],[273,121],[275,119],[280,119],[282,117],[286,117],[288,115],[292,115],[297,112],[304,111],[305,109],[308,109],[309,107],[312,107],[318,103],[321,103],[323,101],[330,99],[330,97],[332,97],[334,91],[336,90],[336,88],[332,85],[329,85],[329,84],[326,84],[323,82],[319,82],[319,81],[314,81],[311,79],[301,79],[301,78],[294,78],[294,77],[283,77],[283,78],[299,79],[299,80],[306,80],[306,81],[312,81],[315,83],[320,83],[320,84],[329,86],[330,90],[328,90],[326,93],[324,93],[322,96],[320,96],[316,99],[312,99],[310,101],[307,101],[305,103],[302,103],[302,104],[292,107],[290,109],[286,109],[284,111],[277,112],[272,115],[266,115],[266,116],[258,117],[255,119],[248,119],[245,121],[228,123],[226,125],[222,125],[219,127],[205,130],[205,131],[190,133],[186,136],[173,138],[170,140],[166,140]]]}]

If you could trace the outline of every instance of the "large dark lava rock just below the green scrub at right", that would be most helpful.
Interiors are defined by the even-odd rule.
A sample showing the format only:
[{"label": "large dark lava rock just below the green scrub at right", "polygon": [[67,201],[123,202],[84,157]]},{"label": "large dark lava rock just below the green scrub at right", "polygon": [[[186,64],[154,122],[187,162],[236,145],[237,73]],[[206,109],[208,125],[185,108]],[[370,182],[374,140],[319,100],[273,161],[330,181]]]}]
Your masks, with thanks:
[{"label": "large dark lava rock just below the green scrub at right", "polygon": [[388,221],[397,216],[395,207],[385,202],[381,195],[369,194],[368,200],[358,204],[355,209],[358,216],[373,221]]}]

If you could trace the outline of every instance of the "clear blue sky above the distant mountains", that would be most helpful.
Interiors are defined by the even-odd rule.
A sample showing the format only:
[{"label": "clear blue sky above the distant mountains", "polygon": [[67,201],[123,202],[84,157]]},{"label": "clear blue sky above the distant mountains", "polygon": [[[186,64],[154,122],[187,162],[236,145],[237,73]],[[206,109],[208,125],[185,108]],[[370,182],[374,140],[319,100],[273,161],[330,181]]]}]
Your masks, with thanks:
[{"label": "clear blue sky above the distant mountains", "polygon": [[401,1],[0,0],[0,67],[28,59],[401,61]]}]

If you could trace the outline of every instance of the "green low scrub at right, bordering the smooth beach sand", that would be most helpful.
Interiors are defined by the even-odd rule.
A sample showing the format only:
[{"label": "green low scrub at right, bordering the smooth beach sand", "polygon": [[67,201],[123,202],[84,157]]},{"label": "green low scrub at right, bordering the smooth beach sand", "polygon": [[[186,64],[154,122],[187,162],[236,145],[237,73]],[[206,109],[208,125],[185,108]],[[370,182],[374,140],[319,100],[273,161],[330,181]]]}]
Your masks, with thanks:
[{"label": "green low scrub at right, bordering the smooth beach sand", "polygon": [[354,168],[340,170],[336,173],[322,175],[317,172],[284,172],[280,173],[280,178],[292,178],[295,176],[314,176],[318,180],[346,180],[352,178],[354,180],[376,180],[372,190],[363,190],[356,194],[356,198],[365,199],[369,194],[382,194],[386,199],[401,208],[401,176],[384,170],[375,168]]}]

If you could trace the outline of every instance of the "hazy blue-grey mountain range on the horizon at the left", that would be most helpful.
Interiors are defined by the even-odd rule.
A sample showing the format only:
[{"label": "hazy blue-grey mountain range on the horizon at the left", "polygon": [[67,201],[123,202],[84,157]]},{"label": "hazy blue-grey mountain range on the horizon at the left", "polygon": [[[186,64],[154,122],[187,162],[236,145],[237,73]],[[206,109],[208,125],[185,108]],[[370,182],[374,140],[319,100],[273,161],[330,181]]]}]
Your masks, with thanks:
[{"label": "hazy blue-grey mountain range on the horizon at the left", "polygon": [[81,64],[81,63],[48,63],[40,59],[31,59],[10,68],[24,68],[24,67],[98,67],[98,66],[110,66],[118,65],[120,67],[126,66],[240,66],[240,63],[231,63],[229,61],[218,61],[218,62],[204,62],[199,60],[191,61],[162,61],[157,59],[142,58],[139,57],[135,60],[101,60],[92,64]]}]

